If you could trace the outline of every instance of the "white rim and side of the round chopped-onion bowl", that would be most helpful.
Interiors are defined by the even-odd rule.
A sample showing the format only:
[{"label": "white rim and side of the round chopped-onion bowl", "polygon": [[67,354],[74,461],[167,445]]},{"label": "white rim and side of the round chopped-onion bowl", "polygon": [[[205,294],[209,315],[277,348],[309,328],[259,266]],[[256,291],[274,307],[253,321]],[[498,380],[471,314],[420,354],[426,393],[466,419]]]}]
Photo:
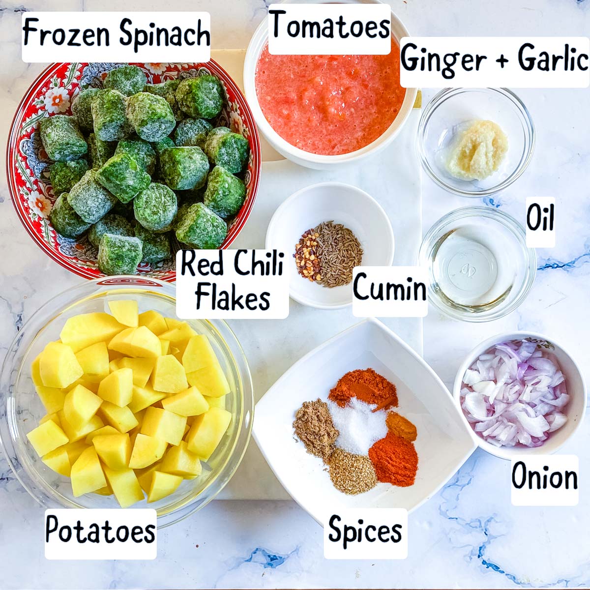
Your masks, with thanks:
[{"label": "white rim and side of the round chopped-onion bowl", "polygon": [[[500,459],[510,460],[510,459],[512,459],[512,457],[514,455],[523,454],[523,453],[525,453],[525,454],[526,453],[543,454],[540,450],[543,447],[545,447],[545,444],[541,445],[540,447],[536,447],[537,452],[535,453],[534,451],[532,452],[532,451],[530,451],[526,448],[522,448],[522,447],[496,447],[495,445],[491,444],[490,442],[483,440],[483,438],[478,436],[477,432],[473,430],[473,427],[471,427],[471,424],[469,424],[469,422],[467,421],[467,418],[463,412],[463,408],[461,408],[461,383],[463,383],[463,376],[465,375],[465,372],[467,371],[467,369],[469,368],[469,366],[471,365],[471,363],[473,362],[474,358],[477,355],[480,355],[482,352],[491,348],[491,346],[493,346],[494,344],[508,342],[509,340],[524,339],[524,338],[535,338],[538,340],[545,340],[546,342],[549,342],[553,346],[556,346],[557,348],[559,348],[563,352],[564,355],[568,356],[568,358],[572,361],[572,364],[575,367],[576,371],[579,373],[580,379],[582,381],[582,396],[584,398],[584,408],[586,408],[586,406],[588,405],[588,390],[586,388],[586,382],[584,381],[584,376],[582,375],[582,371],[580,369],[580,366],[576,362],[575,358],[573,358],[573,356],[571,355],[569,350],[566,348],[563,348],[563,346],[559,342],[556,342],[555,339],[545,336],[544,334],[540,334],[539,332],[530,332],[529,330],[514,330],[513,332],[500,332],[499,334],[496,334],[495,336],[490,336],[486,340],[483,340],[477,346],[474,346],[474,348],[471,349],[470,352],[467,353],[465,359],[461,363],[461,365],[457,371],[457,375],[455,375],[455,381],[453,383],[453,398],[455,400],[455,404],[457,404],[457,409],[460,412],[461,418],[463,419],[463,421],[467,425],[467,427],[470,431],[470,434],[471,434],[471,438],[473,438],[473,440],[476,442],[477,446],[480,447],[481,449],[483,449],[484,451],[486,451],[487,453],[490,453],[491,455],[494,455],[495,457],[499,457]],[[576,432],[578,431],[578,429],[582,425],[582,421],[584,421],[584,416],[585,416],[585,411],[582,411],[582,413],[580,415],[580,419],[578,420],[577,424],[574,425],[573,430],[569,433],[568,437],[561,444],[559,444],[557,447],[548,451],[549,454],[553,454],[553,453],[556,453],[557,451],[559,451],[559,449],[561,447],[563,447],[563,445],[567,441],[569,441],[569,439],[572,438],[573,435],[576,434]]]}]

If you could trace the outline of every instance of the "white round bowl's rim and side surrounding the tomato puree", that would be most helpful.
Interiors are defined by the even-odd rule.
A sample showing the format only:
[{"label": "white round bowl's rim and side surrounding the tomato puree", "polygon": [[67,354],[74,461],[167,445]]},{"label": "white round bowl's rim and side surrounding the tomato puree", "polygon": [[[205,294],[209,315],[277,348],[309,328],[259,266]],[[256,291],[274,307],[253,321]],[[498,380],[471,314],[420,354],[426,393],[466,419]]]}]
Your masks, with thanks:
[{"label": "white round bowl's rim and side surrounding the tomato puree", "polygon": [[[290,2],[296,2],[297,0],[284,0],[281,4],[289,4]],[[326,0],[321,0],[326,1]],[[349,2],[346,2],[349,4]],[[368,0],[369,4],[383,4],[381,0]],[[401,37],[397,37],[396,35],[392,35],[395,37],[395,40],[398,42],[401,41],[402,37],[409,37],[409,31],[405,27],[404,23],[395,14],[393,9],[391,9],[391,16],[392,22],[395,20],[395,24],[399,29],[402,31]],[[267,139],[268,143],[273,146],[281,154],[289,154],[289,156],[293,157],[297,162],[309,162],[310,164],[320,165],[320,166],[333,166],[342,163],[353,162],[360,158],[364,158],[369,154],[373,154],[378,152],[379,150],[385,148],[389,143],[391,143],[398,133],[401,131],[404,123],[409,118],[409,115],[412,113],[414,109],[414,103],[416,101],[416,97],[418,95],[417,88],[407,88],[405,89],[406,93],[404,96],[404,101],[402,102],[402,106],[399,109],[399,113],[395,117],[395,119],[391,122],[391,125],[375,140],[373,140],[368,145],[355,150],[354,152],[337,154],[337,155],[325,155],[325,154],[316,154],[312,152],[306,152],[300,148],[296,148],[295,146],[291,145],[287,140],[283,139],[278,133],[271,127],[270,123],[268,123],[262,109],[260,107],[260,103],[258,103],[258,96],[256,94],[256,89],[254,86],[254,74],[255,74],[255,67],[258,63],[259,53],[256,52],[254,56],[253,53],[256,50],[258,44],[261,41],[266,40],[268,37],[268,21],[267,18],[263,18],[260,22],[254,34],[250,38],[250,42],[248,43],[248,47],[246,49],[246,55],[244,59],[244,94],[246,100],[248,101],[248,105],[250,106],[250,110],[254,116],[254,120],[258,125],[258,129],[262,132],[263,136]],[[264,45],[263,45],[264,47]],[[397,125],[396,125],[397,122]],[[392,129],[392,127],[396,127]]]}]

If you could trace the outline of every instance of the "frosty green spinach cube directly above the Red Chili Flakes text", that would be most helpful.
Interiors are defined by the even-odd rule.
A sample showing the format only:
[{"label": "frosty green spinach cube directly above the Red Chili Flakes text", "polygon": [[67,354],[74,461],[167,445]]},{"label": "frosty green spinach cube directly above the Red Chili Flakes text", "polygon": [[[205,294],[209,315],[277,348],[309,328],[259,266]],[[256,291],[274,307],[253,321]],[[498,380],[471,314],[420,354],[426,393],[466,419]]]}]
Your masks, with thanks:
[{"label": "frosty green spinach cube directly above the Red Chili Flakes text", "polygon": [[202,203],[184,209],[176,225],[176,239],[198,249],[219,248],[226,235],[225,221]]}]

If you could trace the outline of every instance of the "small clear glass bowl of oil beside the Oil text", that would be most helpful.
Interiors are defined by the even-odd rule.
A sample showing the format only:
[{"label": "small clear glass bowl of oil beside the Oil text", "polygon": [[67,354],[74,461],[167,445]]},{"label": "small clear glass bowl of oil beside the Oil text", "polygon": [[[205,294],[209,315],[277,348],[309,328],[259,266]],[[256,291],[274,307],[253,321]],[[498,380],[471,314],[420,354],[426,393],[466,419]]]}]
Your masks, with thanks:
[{"label": "small clear glass bowl of oil beside the Oil text", "polygon": [[[537,257],[526,247],[525,229],[516,219],[490,207],[462,207],[428,230],[418,264],[428,268],[428,299],[438,310],[457,320],[489,322],[526,299]],[[489,299],[467,303],[477,299],[475,281]]]}]

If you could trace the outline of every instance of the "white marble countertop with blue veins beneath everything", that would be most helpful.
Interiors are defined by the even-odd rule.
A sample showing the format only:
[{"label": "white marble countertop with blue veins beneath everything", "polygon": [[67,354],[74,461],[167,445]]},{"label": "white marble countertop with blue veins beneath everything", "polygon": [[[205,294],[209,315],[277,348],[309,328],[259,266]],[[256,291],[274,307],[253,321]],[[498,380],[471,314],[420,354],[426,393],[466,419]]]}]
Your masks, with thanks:
[{"label": "white marble countertop with blue veins beneath everything", "polygon": [[[265,0],[127,0],[129,10],[211,12],[214,47],[241,49],[264,17]],[[390,0],[409,31],[421,35],[588,35],[590,0]],[[12,114],[40,64],[20,58],[23,10],[120,9],[98,0],[0,0],[1,148]],[[502,320],[458,323],[430,310],[424,357],[451,385],[467,351],[503,330],[547,333],[573,350],[590,377],[590,90],[518,91],[536,124],[537,147],[526,173],[493,199],[522,218],[527,195],[555,195],[557,245],[538,251],[535,285]],[[431,92],[425,93],[428,99]],[[2,157],[4,153],[2,153]],[[1,158],[0,158],[1,159]],[[478,202],[454,199],[423,179],[423,229],[445,212]],[[6,350],[37,307],[79,280],[42,255],[23,231],[0,182],[0,348]],[[353,323],[351,317],[350,323]],[[304,352],[304,351],[302,351]],[[293,359],[294,360],[294,359]],[[288,366],[290,362],[286,363]],[[590,467],[590,422],[564,453]],[[293,501],[214,501],[160,532],[153,562],[50,562],[42,546],[42,510],[0,458],[0,588],[513,588],[590,585],[588,493],[575,508],[510,504],[509,464],[476,451],[449,483],[411,514],[408,559],[327,561],[322,530]],[[582,477],[582,486],[584,486]]]}]

